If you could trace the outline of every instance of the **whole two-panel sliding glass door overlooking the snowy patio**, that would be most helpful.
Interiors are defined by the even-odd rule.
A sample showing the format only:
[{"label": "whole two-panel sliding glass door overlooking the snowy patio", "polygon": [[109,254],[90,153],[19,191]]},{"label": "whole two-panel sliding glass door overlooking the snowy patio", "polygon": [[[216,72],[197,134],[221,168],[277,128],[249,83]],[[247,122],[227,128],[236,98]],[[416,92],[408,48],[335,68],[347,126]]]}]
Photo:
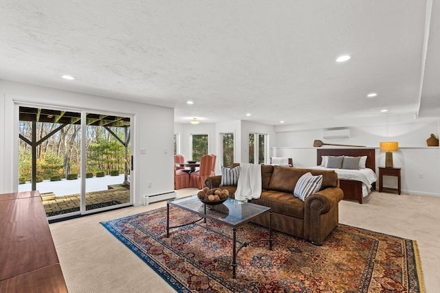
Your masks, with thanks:
[{"label": "whole two-panel sliding glass door overlooking the snowy patio", "polygon": [[50,220],[131,204],[130,117],[18,108],[19,191],[39,190]]}]

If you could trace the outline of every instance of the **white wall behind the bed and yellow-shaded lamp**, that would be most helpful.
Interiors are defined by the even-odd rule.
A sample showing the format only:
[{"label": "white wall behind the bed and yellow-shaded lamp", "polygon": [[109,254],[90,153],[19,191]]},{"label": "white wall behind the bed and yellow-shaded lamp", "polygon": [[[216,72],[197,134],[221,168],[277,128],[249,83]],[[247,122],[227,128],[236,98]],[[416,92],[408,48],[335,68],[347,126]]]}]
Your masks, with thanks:
[{"label": "white wall behind the bed and yellow-shaded lamp", "polygon": [[[276,156],[292,157],[295,167],[311,167],[316,165],[315,139],[324,143],[364,145],[376,149],[376,167],[379,167],[385,165],[385,154],[379,151],[379,143],[398,141],[399,151],[393,153],[393,161],[396,167],[402,168],[402,192],[440,196],[440,149],[426,145],[431,133],[439,137],[438,120],[419,119],[404,124],[350,127],[351,137],[348,139],[323,139],[323,130],[325,128],[277,132],[277,145],[273,150]],[[321,148],[329,147],[333,146]],[[419,178],[420,174],[423,178]],[[384,186],[396,187],[395,181],[395,178],[387,176]]]}]

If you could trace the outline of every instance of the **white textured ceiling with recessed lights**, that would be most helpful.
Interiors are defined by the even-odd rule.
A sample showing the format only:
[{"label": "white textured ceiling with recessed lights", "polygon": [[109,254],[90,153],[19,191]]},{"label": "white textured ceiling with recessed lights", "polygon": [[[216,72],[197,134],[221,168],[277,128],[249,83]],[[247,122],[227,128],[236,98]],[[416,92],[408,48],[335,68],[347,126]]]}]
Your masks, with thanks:
[{"label": "white textured ceiling with recessed lights", "polygon": [[181,123],[438,116],[439,1],[427,5],[1,0],[0,78],[168,106]]}]

